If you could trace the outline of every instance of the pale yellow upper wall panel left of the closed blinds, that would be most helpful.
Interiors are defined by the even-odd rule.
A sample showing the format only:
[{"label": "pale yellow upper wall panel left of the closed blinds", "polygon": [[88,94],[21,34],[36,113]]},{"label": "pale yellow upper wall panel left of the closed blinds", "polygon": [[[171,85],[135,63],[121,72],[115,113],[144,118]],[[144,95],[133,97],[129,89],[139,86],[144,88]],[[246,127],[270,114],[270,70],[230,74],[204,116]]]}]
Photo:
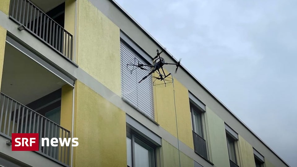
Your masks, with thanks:
[{"label": "pale yellow upper wall panel left of the closed blinds", "polygon": [[77,64],[121,96],[120,29],[88,0],[78,9]]}]

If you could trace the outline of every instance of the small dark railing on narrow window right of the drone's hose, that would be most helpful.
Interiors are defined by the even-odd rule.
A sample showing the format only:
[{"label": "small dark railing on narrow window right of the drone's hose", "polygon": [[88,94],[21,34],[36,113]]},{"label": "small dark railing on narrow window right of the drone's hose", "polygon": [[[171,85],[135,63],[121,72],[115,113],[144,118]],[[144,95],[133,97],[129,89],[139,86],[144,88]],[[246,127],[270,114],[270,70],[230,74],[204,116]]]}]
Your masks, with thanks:
[{"label": "small dark railing on narrow window right of the drone's hose", "polygon": [[201,136],[199,136],[199,134],[196,134],[196,132],[193,131],[193,141],[195,152],[208,160],[206,141],[204,140],[204,138],[202,138]]}]

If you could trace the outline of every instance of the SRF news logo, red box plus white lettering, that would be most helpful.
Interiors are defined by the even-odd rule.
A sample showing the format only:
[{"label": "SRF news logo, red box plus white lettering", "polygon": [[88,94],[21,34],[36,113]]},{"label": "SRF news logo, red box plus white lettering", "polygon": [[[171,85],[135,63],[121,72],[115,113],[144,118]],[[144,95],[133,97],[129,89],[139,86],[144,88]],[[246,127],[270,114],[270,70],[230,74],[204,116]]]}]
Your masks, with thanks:
[{"label": "SRF news logo, red box plus white lettering", "polygon": [[[41,146],[48,147],[49,144],[52,147],[57,147],[58,143],[60,146],[66,145],[67,147],[70,145],[70,141],[72,141],[73,147],[78,146],[78,142],[76,141],[78,138],[41,138]],[[11,151],[39,151],[39,134],[38,133],[13,133],[11,134]]]}]

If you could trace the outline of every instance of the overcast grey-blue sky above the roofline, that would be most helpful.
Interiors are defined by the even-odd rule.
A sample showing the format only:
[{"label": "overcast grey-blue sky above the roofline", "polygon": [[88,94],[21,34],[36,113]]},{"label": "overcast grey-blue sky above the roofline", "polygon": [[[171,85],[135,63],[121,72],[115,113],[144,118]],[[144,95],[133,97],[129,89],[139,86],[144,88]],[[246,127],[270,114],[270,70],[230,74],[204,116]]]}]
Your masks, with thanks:
[{"label": "overcast grey-blue sky above the roofline", "polygon": [[297,166],[296,0],[117,2]]}]

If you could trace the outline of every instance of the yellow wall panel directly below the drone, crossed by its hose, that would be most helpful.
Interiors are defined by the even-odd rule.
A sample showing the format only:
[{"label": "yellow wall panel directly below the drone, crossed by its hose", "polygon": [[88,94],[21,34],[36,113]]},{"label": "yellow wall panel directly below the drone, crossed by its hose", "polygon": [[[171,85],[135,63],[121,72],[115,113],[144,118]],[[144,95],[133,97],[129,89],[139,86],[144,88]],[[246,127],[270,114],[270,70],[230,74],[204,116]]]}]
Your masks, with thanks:
[{"label": "yellow wall panel directly below the drone, crossed by its hose", "polygon": [[[194,149],[188,90],[175,78],[174,90],[179,140]],[[166,87],[154,86],[154,105],[156,121],[177,137],[173,84]]]}]

